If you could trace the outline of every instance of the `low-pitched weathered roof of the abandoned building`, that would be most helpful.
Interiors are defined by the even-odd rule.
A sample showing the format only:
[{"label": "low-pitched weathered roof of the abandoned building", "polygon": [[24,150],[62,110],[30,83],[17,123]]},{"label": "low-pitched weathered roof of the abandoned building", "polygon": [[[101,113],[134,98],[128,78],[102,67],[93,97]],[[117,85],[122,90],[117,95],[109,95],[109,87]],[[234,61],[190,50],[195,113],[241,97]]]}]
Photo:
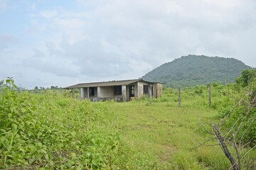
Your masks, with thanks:
[{"label": "low-pitched weathered roof of the abandoned building", "polygon": [[65,89],[77,89],[81,87],[95,87],[95,86],[122,86],[122,85],[133,84],[137,81],[143,81],[146,83],[159,83],[159,82],[145,81],[143,79],[130,79],[130,80],[102,81],[102,82],[75,84],[73,86],[65,87]]}]

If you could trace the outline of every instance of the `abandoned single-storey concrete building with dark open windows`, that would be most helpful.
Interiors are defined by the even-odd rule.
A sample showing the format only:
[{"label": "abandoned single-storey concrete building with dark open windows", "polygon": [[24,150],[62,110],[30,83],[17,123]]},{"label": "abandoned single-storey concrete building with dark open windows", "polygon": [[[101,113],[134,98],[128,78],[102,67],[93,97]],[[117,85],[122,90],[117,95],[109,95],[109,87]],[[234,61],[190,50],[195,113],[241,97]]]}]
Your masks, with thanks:
[{"label": "abandoned single-storey concrete building with dark open windows", "polygon": [[131,101],[144,95],[160,98],[163,84],[149,82],[143,79],[131,79],[121,81],[103,81],[94,83],[76,84],[65,89],[80,89],[80,98],[88,98],[91,101]]}]

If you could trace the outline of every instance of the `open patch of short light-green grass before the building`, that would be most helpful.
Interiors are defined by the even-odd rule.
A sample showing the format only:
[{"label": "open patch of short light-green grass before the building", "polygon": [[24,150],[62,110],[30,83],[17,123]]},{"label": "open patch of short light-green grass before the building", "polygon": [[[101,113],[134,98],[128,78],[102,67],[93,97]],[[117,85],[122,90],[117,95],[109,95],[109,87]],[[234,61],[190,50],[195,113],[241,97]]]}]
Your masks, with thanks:
[{"label": "open patch of short light-green grass before the building", "polygon": [[213,138],[201,125],[210,123],[216,111],[178,108],[177,103],[107,103],[107,107],[117,116],[136,169],[228,169],[219,146],[198,147]]}]

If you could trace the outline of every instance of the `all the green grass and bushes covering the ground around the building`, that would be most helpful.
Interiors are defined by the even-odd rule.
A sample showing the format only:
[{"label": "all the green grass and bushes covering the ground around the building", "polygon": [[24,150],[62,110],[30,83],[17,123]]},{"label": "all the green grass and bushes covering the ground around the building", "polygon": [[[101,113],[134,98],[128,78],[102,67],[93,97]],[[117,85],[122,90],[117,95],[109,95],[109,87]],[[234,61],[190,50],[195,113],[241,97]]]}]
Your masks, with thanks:
[{"label": "all the green grass and bushes covering the ground around the building", "polygon": [[152,104],[147,96],[92,103],[65,90],[17,91],[7,79],[0,169],[229,169],[212,125],[240,169],[255,169],[256,79],[250,95],[242,84],[210,84],[211,106],[207,86],[183,88],[178,108],[177,89]]}]

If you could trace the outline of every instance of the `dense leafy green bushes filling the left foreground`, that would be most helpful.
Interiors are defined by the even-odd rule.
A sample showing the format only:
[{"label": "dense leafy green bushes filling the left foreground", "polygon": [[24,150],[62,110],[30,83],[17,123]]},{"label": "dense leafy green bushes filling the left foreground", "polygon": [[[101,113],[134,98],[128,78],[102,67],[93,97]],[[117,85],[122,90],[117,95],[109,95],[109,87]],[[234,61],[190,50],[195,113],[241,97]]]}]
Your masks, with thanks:
[{"label": "dense leafy green bushes filling the left foreground", "polygon": [[[0,94],[0,169],[125,169],[114,117],[60,91]],[[111,120],[111,121],[110,121]]]}]

